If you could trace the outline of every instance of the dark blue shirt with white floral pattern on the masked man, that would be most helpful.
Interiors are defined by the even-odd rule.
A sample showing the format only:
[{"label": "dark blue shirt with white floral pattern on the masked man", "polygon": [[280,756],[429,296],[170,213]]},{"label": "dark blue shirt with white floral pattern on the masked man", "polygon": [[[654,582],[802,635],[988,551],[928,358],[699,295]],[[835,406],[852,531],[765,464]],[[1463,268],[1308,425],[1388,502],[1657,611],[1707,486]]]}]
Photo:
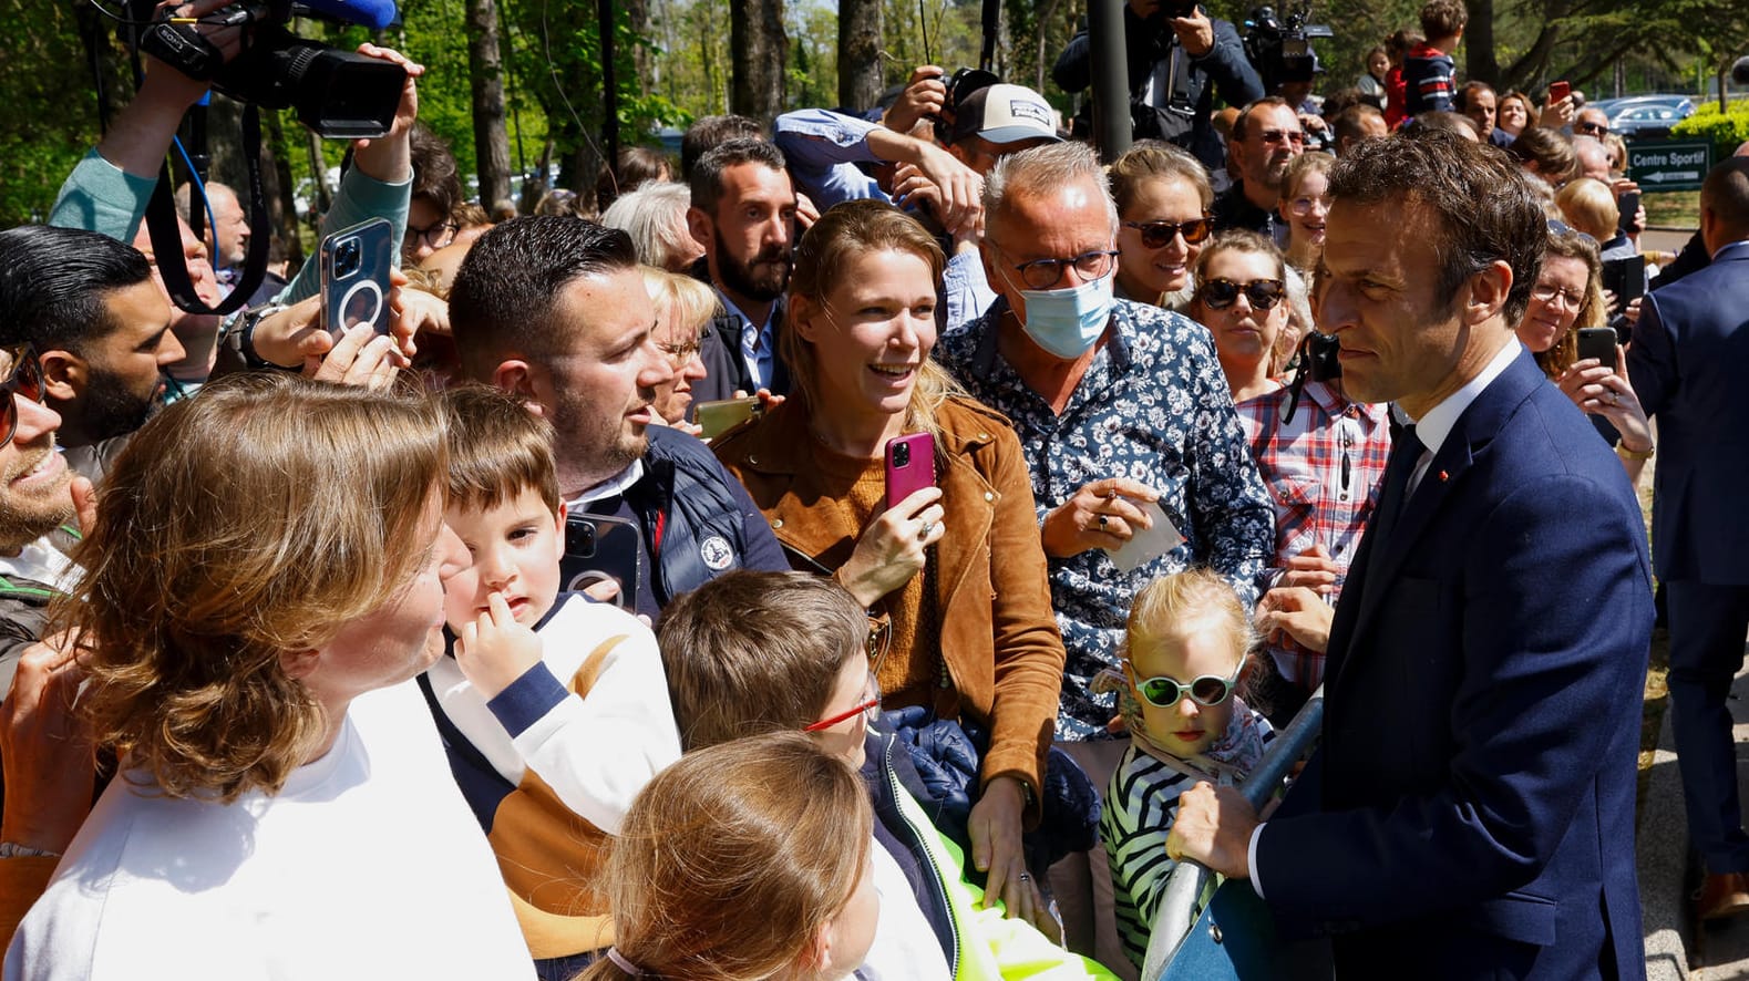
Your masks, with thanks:
[{"label": "dark blue shirt with white floral pattern on the masked man", "polygon": [[997,299],[943,336],[936,358],[1014,423],[1039,521],[1093,481],[1130,477],[1160,491],[1161,509],[1184,535],[1179,547],[1128,574],[1104,549],[1049,560],[1051,605],[1069,649],[1056,738],[1104,740],[1118,710],[1112,696],[1093,694],[1091,680],[1123,657],[1137,591],[1207,565],[1251,609],[1275,558],[1275,516],[1205,327],[1118,301],[1111,336],[1056,414],[997,353],[1006,313],[1007,301]]}]

